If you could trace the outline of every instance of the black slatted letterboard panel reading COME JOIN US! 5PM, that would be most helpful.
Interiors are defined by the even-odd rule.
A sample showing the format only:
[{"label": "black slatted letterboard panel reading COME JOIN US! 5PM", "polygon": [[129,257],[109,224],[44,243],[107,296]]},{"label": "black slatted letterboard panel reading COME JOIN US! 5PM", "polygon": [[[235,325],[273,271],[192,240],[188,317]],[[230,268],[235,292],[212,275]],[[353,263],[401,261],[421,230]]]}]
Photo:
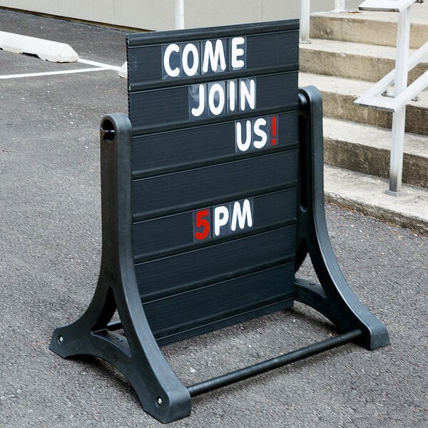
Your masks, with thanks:
[{"label": "black slatted letterboard panel reading COME JOIN US! 5PM", "polygon": [[292,305],[298,22],[128,35],[133,248],[165,344]]}]

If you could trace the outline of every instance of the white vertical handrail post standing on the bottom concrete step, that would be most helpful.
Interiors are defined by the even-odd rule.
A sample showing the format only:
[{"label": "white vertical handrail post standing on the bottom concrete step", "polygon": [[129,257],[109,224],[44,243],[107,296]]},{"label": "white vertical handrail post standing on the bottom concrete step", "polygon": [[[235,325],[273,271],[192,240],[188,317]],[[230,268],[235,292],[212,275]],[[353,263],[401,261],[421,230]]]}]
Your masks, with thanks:
[{"label": "white vertical handrail post standing on the bottom concrete step", "polygon": [[[410,38],[410,6],[399,12],[397,24],[397,58],[395,60],[394,98],[407,88]],[[392,113],[392,144],[389,161],[389,190],[387,193],[397,195],[402,185],[404,127],[406,123],[406,106]]]}]

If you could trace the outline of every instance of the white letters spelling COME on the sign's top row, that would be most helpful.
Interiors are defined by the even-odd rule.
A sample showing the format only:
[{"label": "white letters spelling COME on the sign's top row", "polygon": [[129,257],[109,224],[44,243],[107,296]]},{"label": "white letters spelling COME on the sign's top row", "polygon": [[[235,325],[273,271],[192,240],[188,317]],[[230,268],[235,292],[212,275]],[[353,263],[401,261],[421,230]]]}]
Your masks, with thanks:
[{"label": "white letters spelling COME on the sign's top row", "polygon": [[245,68],[245,37],[162,47],[163,78],[192,77]]}]

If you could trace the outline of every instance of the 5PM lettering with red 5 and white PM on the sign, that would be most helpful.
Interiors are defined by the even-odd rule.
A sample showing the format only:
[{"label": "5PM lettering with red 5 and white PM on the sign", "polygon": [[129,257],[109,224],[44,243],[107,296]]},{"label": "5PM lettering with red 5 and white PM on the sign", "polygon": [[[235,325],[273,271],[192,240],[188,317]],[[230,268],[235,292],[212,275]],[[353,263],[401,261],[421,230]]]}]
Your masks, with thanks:
[{"label": "5PM lettering with red 5 and white PM on the sign", "polygon": [[193,213],[195,241],[218,238],[253,227],[253,200],[237,200]]}]

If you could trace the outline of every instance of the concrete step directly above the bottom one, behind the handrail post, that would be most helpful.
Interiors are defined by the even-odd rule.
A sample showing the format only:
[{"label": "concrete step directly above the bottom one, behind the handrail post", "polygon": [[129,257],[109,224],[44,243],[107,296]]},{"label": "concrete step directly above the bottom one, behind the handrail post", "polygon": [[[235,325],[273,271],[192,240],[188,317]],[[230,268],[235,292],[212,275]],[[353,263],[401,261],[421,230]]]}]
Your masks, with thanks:
[{"label": "concrete step directly above the bottom one, behind the handrail post", "polygon": [[[329,165],[389,178],[391,131],[324,118],[324,161]],[[428,188],[428,138],[406,133],[403,183]]]}]

